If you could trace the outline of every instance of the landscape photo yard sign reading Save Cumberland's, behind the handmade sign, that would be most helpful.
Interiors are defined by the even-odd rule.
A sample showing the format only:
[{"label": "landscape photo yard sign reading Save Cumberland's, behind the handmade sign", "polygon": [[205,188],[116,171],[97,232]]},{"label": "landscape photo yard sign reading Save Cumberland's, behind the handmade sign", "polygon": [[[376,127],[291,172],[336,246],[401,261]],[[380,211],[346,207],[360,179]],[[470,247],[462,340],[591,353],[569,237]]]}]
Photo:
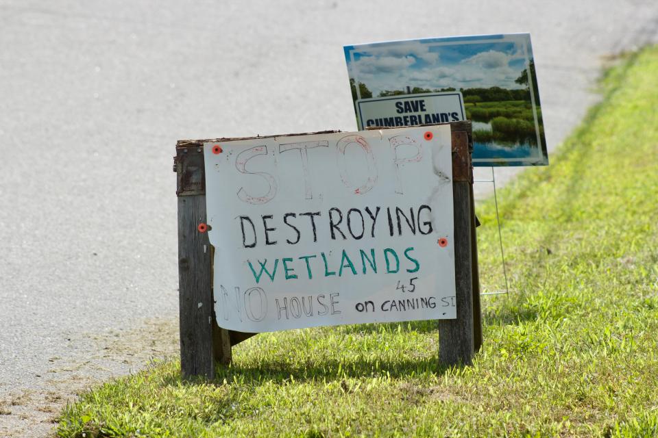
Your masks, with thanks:
[{"label": "landscape photo yard sign reading Save Cumberland's, behind the handmade sign", "polygon": [[[548,165],[530,34],[375,42],[344,51],[359,129],[472,120],[474,166]],[[421,106],[423,94],[429,100]]]}]

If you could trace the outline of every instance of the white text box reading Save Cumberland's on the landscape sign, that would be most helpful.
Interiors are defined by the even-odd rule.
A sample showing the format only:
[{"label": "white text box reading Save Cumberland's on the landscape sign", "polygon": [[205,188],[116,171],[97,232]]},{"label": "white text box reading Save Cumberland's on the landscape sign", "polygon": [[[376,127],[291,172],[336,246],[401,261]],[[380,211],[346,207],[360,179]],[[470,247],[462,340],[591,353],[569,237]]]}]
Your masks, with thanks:
[{"label": "white text box reading Save Cumberland's on the landscape sign", "polygon": [[461,92],[402,94],[358,99],[358,127],[402,127],[466,120]]}]

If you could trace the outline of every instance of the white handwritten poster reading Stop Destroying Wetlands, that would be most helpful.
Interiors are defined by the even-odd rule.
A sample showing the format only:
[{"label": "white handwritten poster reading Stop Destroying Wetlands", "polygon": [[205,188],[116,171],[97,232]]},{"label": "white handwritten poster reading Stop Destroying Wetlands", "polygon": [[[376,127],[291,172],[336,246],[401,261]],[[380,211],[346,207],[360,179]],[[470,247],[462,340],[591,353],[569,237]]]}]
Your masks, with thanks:
[{"label": "white handwritten poster reading Stop Destroying Wetlands", "polygon": [[450,126],[204,144],[217,323],[456,318]]}]

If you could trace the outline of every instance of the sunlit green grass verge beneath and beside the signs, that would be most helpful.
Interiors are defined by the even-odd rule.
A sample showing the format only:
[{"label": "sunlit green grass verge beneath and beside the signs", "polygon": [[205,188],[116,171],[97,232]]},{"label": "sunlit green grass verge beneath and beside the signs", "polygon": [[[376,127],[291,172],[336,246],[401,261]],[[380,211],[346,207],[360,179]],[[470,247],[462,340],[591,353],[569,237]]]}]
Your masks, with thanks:
[{"label": "sunlit green grass verge beneath and beside the signs", "polygon": [[[499,193],[513,292],[483,300],[472,367],[437,366],[435,322],[263,334],[212,383],[170,361],[82,394],[58,434],[657,436],[657,71],[655,47],[610,70],[551,166]],[[500,288],[491,203],[478,214]]]}]

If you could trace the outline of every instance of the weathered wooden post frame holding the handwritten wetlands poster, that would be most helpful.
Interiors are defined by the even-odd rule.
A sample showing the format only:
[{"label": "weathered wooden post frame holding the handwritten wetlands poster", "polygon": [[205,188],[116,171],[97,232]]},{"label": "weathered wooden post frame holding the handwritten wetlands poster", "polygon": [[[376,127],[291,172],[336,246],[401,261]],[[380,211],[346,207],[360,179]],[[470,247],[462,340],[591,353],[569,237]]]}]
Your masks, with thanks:
[{"label": "weathered wooden post frame holding the handwritten wetlands poster", "polygon": [[[483,342],[471,162],[472,127],[468,120],[446,125],[450,125],[452,131],[457,318],[439,321],[439,362],[442,365],[470,365],[474,352]],[[334,132],[337,131],[297,135]],[[204,143],[230,140],[247,138],[180,140],[176,144],[173,170],[177,177],[178,196],[180,367],[185,377],[214,378],[217,363],[230,363],[232,346],[256,335],[222,329],[217,325],[212,292],[214,251],[208,233],[204,227],[199,228],[199,224],[206,224]]]}]

